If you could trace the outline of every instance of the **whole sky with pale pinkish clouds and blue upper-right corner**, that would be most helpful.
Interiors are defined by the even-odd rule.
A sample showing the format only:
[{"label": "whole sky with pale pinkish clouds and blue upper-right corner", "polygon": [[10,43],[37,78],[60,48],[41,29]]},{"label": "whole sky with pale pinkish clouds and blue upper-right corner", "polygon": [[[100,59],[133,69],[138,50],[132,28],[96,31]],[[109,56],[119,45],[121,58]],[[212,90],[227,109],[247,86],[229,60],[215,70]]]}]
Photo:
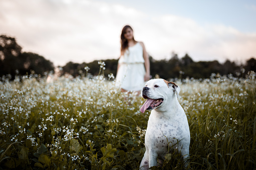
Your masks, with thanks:
[{"label": "whole sky with pale pinkish clouds and blue upper-right corner", "polygon": [[256,57],[256,1],[0,0],[0,34],[55,66],[118,59],[124,25],[154,59]]}]

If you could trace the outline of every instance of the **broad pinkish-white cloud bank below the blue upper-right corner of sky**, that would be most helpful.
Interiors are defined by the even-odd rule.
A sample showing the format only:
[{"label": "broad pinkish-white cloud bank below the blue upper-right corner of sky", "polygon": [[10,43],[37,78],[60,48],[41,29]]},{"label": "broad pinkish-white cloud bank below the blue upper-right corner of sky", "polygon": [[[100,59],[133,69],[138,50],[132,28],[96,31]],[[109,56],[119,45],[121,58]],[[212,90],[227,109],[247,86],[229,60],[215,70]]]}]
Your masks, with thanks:
[{"label": "broad pinkish-white cloud bank below the blue upper-right corner of sky", "polygon": [[174,15],[151,18],[133,8],[95,1],[1,1],[0,34],[16,37],[24,51],[55,65],[118,58],[120,33],[134,28],[150,55],[162,59],[175,51],[196,61],[245,60],[256,56],[256,34],[223,25],[199,25]]}]

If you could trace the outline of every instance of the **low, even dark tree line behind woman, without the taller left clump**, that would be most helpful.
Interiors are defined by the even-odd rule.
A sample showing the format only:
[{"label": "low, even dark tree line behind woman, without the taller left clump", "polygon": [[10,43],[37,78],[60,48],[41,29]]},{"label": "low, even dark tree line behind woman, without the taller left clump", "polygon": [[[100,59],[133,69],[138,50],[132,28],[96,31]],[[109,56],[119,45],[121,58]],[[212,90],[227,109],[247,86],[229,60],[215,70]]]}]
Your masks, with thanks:
[{"label": "low, even dark tree line behind woman, without the taller left clump", "polygon": [[[104,70],[104,75],[107,77],[108,74],[117,73],[117,59],[112,60],[102,60],[106,64],[106,70]],[[92,75],[99,74],[99,64],[98,60],[91,63],[72,63],[68,62],[62,70],[62,75],[65,73],[71,74],[73,77],[86,74],[85,67],[89,67],[88,71]],[[153,78],[209,78],[212,73],[219,73],[220,75],[232,74],[234,77],[244,77],[248,71],[256,72],[256,60],[251,58],[245,62],[245,64],[236,64],[226,60],[223,64],[218,61],[199,61],[194,62],[193,59],[186,54],[181,59],[177,54],[173,53],[172,58],[169,60],[154,60],[153,57],[149,57],[150,62],[150,73]]]}]

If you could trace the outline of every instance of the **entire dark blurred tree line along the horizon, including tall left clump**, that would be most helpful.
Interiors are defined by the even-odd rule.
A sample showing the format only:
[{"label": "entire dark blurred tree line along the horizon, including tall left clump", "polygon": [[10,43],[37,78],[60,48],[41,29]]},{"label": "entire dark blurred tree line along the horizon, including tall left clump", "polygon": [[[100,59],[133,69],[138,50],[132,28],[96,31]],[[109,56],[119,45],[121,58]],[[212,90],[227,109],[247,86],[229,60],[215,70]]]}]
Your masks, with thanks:
[{"label": "entire dark blurred tree line along the horizon, including tall left clump", "polygon": [[[0,36],[0,77],[11,75],[14,79],[15,75],[37,74],[44,76],[45,72],[54,73],[54,65],[51,61],[46,60],[31,52],[21,52],[22,48],[17,44],[16,39],[6,35]],[[117,59],[101,60],[105,62],[104,75],[117,72]],[[248,71],[256,72],[256,60],[251,57],[245,64],[237,64],[226,60],[223,64],[218,61],[199,61],[195,62],[186,54],[179,58],[176,53],[172,53],[170,59],[155,60],[149,57],[150,73],[152,77],[168,78],[209,78],[212,73],[220,75],[232,74],[235,77],[245,76]],[[68,62],[65,66],[60,67],[60,75],[69,74],[73,77],[87,75],[98,75],[100,65],[98,60],[90,63],[73,63]],[[86,68],[86,69],[85,69]],[[90,68],[90,70],[88,69]]]}]

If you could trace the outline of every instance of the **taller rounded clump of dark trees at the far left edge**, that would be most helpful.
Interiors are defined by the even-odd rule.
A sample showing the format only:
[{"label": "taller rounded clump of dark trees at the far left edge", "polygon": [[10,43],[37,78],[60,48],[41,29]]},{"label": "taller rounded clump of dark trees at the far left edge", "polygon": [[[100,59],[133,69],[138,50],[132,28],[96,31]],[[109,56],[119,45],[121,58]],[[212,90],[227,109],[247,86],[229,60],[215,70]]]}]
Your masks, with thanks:
[{"label": "taller rounded clump of dark trees at the far left edge", "polygon": [[17,44],[16,39],[6,35],[0,36],[0,76],[11,74],[15,78],[16,70],[21,75],[35,74],[43,75],[46,71],[53,71],[53,63],[43,56],[30,52],[21,52],[22,47]]}]

